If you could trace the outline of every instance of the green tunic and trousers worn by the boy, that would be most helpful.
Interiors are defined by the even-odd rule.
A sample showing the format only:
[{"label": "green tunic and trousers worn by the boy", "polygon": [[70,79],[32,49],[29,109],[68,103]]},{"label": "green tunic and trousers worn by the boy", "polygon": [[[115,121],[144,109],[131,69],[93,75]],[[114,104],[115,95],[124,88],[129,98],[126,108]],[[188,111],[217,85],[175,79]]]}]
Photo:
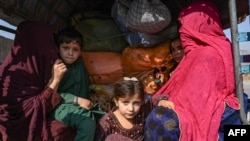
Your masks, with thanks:
[{"label": "green tunic and trousers worn by the boy", "polygon": [[105,113],[100,110],[99,105],[95,105],[91,110],[86,110],[73,102],[75,96],[89,99],[88,74],[82,58],[68,66],[58,87],[58,92],[63,101],[52,112],[52,116],[66,125],[76,128],[75,141],[92,141],[96,128],[94,113],[98,113],[98,116]]}]

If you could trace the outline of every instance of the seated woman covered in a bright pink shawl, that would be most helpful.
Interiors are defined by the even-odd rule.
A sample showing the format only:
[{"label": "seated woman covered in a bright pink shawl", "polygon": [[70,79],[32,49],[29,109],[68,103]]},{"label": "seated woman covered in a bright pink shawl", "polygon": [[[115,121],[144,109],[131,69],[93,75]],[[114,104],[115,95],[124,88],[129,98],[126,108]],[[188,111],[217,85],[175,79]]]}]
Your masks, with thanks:
[{"label": "seated woman covered in a bright pink shawl", "polygon": [[[165,101],[164,106],[177,114],[179,121],[168,128],[180,129],[177,140],[216,141],[223,113],[229,109],[238,114],[240,108],[235,95],[232,47],[223,33],[216,7],[208,1],[185,7],[179,21],[185,56],[153,98],[158,106]],[[158,114],[157,107],[152,113],[146,121],[146,140],[156,140],[155,134],[161,138],[159,133],[165,131],[153,132],[159,124],[170,126],[170,120],[160,120],[166,115]],[[162,123],[155,126],[153,121],[157,118]]]}]

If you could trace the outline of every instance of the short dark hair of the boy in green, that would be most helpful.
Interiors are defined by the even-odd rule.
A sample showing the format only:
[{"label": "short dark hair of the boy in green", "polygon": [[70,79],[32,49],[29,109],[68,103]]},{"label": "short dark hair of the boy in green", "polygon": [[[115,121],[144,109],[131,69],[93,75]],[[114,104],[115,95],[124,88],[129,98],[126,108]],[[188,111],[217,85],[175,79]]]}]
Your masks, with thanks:
[{"label": "short dark hair of the boy in green", "polygon": [[60,44],[62,43],[70,43],[72,41],[76,41],[77,44],[79,44],[81,46],[81,49],[83,49],[84,46],[84,42],[83,42],[83,37],[82,34],[80,32],[78,32],[77,30],[73,29],[73,28],[64,28],[62,29],[56,38],[57,42],[57,46],[59,47]]}]

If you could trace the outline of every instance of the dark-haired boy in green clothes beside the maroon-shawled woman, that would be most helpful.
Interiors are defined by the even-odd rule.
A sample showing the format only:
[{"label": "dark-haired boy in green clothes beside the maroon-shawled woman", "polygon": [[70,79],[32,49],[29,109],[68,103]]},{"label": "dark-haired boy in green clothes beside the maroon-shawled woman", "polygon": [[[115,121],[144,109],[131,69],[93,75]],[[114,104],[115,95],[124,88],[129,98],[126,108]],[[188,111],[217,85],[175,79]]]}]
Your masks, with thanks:
[{"label": "dark-haired boy in green clothes beside the maroon-shawled woman", "polygon": [[105,113],[99,105],[89,100],[88,74],[81,57],[83,39],[79,32],[66,28],[59,32],[57,46],[62,64],[67,72],[58,87],[63,101],[52,116],[76,129],[75,141],[94,139],[96,120]]}]

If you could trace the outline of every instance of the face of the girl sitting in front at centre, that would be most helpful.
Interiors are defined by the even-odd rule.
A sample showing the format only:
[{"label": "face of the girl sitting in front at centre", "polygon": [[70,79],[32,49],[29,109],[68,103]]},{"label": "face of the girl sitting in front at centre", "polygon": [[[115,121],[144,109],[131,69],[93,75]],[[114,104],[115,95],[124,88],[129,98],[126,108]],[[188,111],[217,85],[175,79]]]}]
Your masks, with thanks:
[{"label": "face of the girl sitting in front at centre", "polygon": [[115,99],[115,104],[118,107],[119,116],[131,120],[139,113],[142,99],[139,94],[134,94],[130,97]]}]

